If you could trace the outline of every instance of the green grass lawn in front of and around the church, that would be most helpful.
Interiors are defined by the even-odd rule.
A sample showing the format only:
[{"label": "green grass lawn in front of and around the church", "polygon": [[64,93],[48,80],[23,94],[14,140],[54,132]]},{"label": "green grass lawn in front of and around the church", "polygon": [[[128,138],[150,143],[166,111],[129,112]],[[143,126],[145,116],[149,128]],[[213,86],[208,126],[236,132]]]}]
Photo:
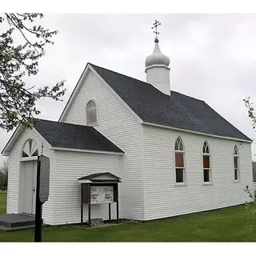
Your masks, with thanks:
[{"label": "green grass lawn in front of and around the church", "polygon": [[[0,213],[5,212],[6,194],[0,193]],[[145,223],[126,223],[88,229],[54,226],[42,229],[44,242],[252,242],[246,230],[250,214],[235,206],[199,214]],[[0,233],[0,242],[33,242],[34,230]]]}]

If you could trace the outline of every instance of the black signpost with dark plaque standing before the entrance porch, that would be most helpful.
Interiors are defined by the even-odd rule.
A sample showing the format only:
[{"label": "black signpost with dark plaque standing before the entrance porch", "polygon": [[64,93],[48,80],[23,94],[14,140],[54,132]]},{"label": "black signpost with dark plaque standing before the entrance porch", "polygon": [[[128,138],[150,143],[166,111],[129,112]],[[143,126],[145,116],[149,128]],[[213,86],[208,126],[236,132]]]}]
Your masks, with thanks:
[{"label": "black signpost with dark plaque standing before the entrance porch", "polygon": [[40,155],[38,156],[34,242],[42,242],[42,204],[48,200],[49,185],[50,159],[44,155]]}]

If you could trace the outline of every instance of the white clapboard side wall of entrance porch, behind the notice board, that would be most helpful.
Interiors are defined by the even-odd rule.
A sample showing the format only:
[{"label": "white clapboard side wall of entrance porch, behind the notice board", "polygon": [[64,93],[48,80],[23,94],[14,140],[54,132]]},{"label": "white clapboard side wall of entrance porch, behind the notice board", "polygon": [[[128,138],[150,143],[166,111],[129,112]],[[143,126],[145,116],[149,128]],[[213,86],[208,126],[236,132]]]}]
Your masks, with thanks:
[{"label": "white clapboard side wall of entrance porch, behind the notice board", "polygon": [[[122,176],[120,155],[91,154],[55,150],[56,191],[55,225],[78,223],[81,220],[81,184],[78,178],[89,174],[110,172]],[[122,183],[119,183],[119,191]],[[119,218],[122,218],[122,194],[119,194]],[[109,218],[108,204],[91,206],[91,218]],[[88,220],[88,205],[84,204],[84,222]],[[111,204],[111,218],[116,218],[116,203]]]}]

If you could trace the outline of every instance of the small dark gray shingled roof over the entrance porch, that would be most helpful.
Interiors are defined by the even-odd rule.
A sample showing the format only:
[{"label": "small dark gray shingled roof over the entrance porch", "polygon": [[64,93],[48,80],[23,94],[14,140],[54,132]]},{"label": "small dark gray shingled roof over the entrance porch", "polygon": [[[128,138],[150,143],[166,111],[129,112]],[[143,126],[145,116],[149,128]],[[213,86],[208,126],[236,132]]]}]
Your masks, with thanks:
[{"label": "small dark gray shingled roof over the entrance porch", "polygon": [[39,119],[34,128],[51,146],[124,153],[94,127]]}]

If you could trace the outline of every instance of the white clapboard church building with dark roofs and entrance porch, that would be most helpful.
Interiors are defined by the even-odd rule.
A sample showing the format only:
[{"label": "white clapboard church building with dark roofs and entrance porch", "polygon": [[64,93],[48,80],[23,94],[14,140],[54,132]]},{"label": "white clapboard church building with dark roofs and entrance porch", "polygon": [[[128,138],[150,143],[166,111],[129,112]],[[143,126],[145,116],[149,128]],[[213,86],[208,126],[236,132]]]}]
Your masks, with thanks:
[{"label": "white clapboard church building with dark roofs and entrance porch", "polygon": [[[10,162],[8,214],[34,214],[42,145],[50,158],[46,224],[80,222],[78,178],[106,172],[121,178],[123,219],[148,221],[246,202],[252,140],[206,102],[170,90],[170,59],[158,38],[154,42],[146,82],[87,63],[58,122],[41,119],[31,130],[15,130],[2,150]],[[92,218],[108,214],[107,204],[91,206]]]}]

